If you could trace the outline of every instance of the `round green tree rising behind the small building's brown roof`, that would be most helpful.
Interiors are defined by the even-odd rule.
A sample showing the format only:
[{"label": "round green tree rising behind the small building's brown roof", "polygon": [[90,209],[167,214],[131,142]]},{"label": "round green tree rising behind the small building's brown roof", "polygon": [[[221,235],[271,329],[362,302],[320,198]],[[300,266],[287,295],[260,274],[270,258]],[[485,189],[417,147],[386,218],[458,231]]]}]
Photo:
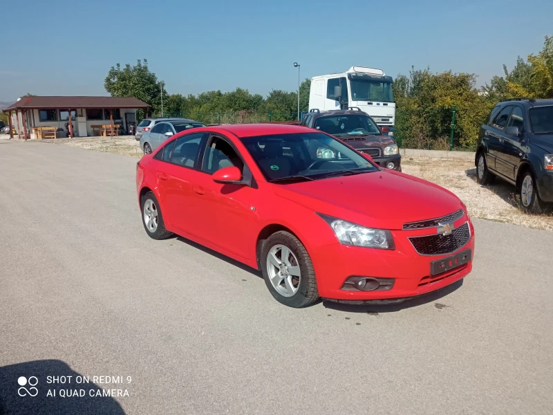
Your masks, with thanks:
[{"label": "round green tree rising behind the small building's brown roof", "polygon": [[146,59],[142,62],[138,60],[135,66],[130,64],[126,64],[124,68],[120,64],[111,66],[104,80],[104,88],[112,97],[138,98],[150,104],[154,113],[160,113],[161,110],[160,90],[164,101],[169,98],[165,87],[160,88],[156,74],[149,70]]}]

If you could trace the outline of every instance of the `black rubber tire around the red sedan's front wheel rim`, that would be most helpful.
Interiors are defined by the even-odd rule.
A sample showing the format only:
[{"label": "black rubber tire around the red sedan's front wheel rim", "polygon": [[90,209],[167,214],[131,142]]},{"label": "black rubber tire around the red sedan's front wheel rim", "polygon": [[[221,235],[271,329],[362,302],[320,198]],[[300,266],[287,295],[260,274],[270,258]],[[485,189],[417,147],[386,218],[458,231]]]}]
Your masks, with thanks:
[{"label": "black rubber tire around the red sedan's front wheel rim", "polygon": [[[300,269],[301,277],[299,278],[299,284],[297,285],[297,292],[290,296],[285,297],[281,295],[273,286],[268,271],[268,255],[272,248],[276,246],[285,246],[288,248],[295,258],[297,258],[298,266]],[[301,308],[308,306],[319,299],[319,291],[317,290],[317,279],[315,278],[315,270],[309,254],[303,246],[303,243],[294,237],[290,232],[281,230],[275,232],[263,243],[261,247],[261,273],[263,273],[263,279],[265,284],[269,288],[270,293],[281,304],[293,308]]]}]

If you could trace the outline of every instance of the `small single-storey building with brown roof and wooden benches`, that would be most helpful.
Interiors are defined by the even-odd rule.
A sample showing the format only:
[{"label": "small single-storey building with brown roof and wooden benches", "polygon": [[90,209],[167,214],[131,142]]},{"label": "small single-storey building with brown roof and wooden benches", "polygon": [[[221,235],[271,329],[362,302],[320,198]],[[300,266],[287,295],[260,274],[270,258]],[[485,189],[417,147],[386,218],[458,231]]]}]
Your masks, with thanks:
[{"label": "small single-storey building with brown roof and wooden benches", "polygon": [[[136,110],[148,111],[149,104],[131,97],[44,97],[28,96],[3,109],[10,127],[21,138],[35,138],[36,127],[57,127],[58,136],[98,135],[100,127],[111,125],[123,133],[136,125]],[[71,124],[68,124],[71,117]],[[120,126],[120,127],[118,127]],[[12,129],[10,136],[13,138]]]}]

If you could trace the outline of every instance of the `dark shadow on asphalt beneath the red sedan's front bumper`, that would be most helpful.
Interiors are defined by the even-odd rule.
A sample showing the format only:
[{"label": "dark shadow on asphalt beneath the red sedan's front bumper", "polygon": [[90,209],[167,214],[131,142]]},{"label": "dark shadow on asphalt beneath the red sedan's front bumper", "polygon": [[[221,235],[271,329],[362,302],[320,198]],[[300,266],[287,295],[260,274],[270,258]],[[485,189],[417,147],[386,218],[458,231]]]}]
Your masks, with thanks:
[{"label": "dark shadow on asphalt beneath the red sedan's front bumper", "polygon": [[[393,304],[378,304],[377,302],[366,302],[365,304],[348,304],[338,303],[330,301],[329,299],[323,300],[325,308],[330,308],[337,311],[345,311],[346,313],[397,313],[406,308],[418,307],[424,304],[435,302],[442,297],[457,291],[463,284],[464,279],[460,279],[449,286],[440,288],[439,290],[432,291],[431,293],[419,295],[413,299],[406,299],[404,302],[397,302]],[[445,307],[443,304],[435,304],[436,308]]]}]

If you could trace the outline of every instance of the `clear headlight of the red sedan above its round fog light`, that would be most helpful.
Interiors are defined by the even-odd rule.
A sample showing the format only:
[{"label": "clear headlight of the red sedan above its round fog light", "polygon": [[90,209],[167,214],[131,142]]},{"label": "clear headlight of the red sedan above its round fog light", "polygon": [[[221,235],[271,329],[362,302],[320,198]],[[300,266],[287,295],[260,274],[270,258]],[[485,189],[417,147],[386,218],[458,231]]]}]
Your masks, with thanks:
[{"label": "clear headlight of the red sedan above its round fog light", "polygon": [[318,213],[334,231],[338,241],[344,245],[364,248],[395,249],[392,232],[389,230],[365,228],[348,221]]}]

